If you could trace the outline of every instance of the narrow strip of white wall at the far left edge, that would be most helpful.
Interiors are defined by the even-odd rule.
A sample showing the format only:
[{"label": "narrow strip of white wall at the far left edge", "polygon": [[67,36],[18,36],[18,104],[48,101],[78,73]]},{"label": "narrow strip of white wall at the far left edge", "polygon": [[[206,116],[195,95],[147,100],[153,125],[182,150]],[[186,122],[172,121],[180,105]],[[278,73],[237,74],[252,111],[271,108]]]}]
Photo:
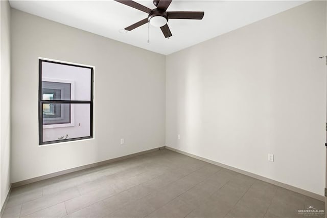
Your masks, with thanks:
[{"label": "narrow strip of white wall at the far left edge", "polygon": [[10,188],[10,6],[0,1],[0,209]]}]

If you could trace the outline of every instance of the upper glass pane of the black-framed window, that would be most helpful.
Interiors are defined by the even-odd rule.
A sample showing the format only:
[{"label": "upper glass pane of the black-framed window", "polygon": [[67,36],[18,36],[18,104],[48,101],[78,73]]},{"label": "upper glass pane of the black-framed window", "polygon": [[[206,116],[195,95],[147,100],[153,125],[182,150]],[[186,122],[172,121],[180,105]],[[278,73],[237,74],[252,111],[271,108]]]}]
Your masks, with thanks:
[{"label": "upper glass pane of the black-framed window", "polygon": [[[91,69],[42,61],[42,100],[91,100]],[[53,94],[53,99],[51,95]]]}]

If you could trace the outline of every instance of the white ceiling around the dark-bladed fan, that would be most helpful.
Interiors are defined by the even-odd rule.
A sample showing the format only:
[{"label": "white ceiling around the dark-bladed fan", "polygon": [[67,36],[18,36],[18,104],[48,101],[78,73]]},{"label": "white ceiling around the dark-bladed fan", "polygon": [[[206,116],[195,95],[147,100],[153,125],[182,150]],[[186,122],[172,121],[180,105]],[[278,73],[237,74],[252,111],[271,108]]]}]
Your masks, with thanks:
[{"label": "white ceiling around the dark-bladed fan", "polygon": [[[152,1],[136,1],[155,8]],[[119,30],[147,17],[145,12],[114,1],[15,1],[11,7],[46,19],[115,39],[160,54],[171,54],[307,1],[183,1],[173,0],[167,11],[204,11],[202,20],[171,19],[172,37],[160,28],[143,25]]]}]

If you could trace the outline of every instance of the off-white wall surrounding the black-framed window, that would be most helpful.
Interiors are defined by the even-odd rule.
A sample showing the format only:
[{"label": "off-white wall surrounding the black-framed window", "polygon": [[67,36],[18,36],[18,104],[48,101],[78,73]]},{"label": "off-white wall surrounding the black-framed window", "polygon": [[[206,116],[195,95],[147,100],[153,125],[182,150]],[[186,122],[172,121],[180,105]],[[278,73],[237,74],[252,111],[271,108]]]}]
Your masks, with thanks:
[{"label": "off-white wall surrounding the black-framed window", "polygon": [[[11,12],[13,183],[165,145],[165,56]],[[95,139],[38,146],[38,57],[95,66]]]}]

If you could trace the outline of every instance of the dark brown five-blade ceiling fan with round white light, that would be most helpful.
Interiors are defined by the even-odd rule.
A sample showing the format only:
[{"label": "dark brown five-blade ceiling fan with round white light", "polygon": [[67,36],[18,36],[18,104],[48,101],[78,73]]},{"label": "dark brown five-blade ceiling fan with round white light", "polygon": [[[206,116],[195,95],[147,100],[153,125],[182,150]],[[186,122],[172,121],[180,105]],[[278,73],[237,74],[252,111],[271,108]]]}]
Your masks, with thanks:
[{"label": "dark brown five-blade ceiling fan with round white light", "polygon": [[172,0],[153,0],[153,4],[156,6],[155,9],[150,9],[144,5],[130,0],[114,1],[148,13],[147,18],[144,18],[143,20],[140,20],[135,24],[126,27],[125,30],[131,31],[149,22],[154,27],[160,27],[166,38],[172,36],[172,33],[170,32],[170,29],[167,25],[169,19],[202,19],[204,16],[203,11],[166,11]]}]

